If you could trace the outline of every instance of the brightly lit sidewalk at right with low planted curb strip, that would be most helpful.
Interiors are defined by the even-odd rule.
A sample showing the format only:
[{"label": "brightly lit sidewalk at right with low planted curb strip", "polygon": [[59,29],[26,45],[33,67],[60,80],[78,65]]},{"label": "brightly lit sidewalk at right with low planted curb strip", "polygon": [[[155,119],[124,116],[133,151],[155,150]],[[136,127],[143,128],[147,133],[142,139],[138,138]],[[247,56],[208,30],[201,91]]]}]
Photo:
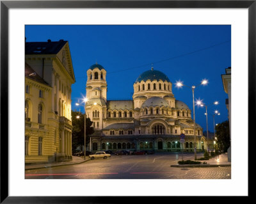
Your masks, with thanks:
[{"label": "brightly lit sidewalk at right with low planted curb strip", "polygon": [[200,162],[207,162],[207,164],[175,164],[171,167],[219,167],[219,166],[231,166],[231,162],[228,162],[228,154],[221,153],[221,155],[215,156],[209,160]]}]

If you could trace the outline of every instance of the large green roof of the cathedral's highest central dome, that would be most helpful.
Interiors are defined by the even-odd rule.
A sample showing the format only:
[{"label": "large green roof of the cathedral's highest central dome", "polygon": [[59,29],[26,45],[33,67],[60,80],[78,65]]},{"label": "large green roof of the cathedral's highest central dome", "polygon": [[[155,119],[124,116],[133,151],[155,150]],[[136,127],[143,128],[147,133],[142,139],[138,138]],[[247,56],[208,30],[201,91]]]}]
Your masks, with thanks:
[{"label": "large green roof of the cathedral's highest central dome", "polygon": [[170,82],[170,80],[168,79],[168,77],[163,74],[163,72],[157,71],[157,70],[148,70],[146,72],[143,72],[137,79],[135,82],[141,82],[141,81],[147,81],[147,80],[153,81],[159,81],[160,79],[162,81],[167,81]]}]

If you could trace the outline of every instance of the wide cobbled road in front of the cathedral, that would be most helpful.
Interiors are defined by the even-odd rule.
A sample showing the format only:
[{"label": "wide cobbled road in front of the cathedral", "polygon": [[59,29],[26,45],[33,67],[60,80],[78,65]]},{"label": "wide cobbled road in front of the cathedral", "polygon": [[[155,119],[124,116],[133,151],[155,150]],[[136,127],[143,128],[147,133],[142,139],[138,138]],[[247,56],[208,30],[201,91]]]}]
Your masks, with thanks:
[{"label": "wide cobbled road in front of the cathedral", "polygon": [[[197,157],[203,154],[198,153]],[[25,171],[27,179],[230,179],[230,167],[171,168],[181,153],[153,155],[112,155],[108,159],[94,159],[82,164]],[[194,159],[184,153],[183,159]]]}]

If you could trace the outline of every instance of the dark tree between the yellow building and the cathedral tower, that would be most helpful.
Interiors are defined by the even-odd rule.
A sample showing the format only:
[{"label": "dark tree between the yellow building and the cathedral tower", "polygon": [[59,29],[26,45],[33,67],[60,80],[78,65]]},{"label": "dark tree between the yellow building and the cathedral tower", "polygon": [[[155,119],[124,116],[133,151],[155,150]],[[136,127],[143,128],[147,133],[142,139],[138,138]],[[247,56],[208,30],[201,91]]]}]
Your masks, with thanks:
[{"label": "dark tree between the yellow building and the cathedral tower", "polygon": [[[78,146],[84,145],[84,114],[81,112],[71,111],[72,116],[72,150],[75,150]],[[79,118],[77,118],[79,116]],[[93,134],[94,130],[91,127],[93,122],[90,118],[86,118],[86,146],[90,143],[87,136]]]}]

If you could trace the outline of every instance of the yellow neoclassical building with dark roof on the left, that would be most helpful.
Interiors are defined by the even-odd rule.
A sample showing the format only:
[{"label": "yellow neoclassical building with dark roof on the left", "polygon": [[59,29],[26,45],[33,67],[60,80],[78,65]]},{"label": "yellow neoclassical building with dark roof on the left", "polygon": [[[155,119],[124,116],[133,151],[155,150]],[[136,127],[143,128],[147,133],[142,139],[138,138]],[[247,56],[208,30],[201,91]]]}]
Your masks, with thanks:
[{"label": "yellow neoclassical building with dark roof on the left", "polygon": [[26,42],[25,50],[25,162],[71,160],[75,76],[68,42]]}]

